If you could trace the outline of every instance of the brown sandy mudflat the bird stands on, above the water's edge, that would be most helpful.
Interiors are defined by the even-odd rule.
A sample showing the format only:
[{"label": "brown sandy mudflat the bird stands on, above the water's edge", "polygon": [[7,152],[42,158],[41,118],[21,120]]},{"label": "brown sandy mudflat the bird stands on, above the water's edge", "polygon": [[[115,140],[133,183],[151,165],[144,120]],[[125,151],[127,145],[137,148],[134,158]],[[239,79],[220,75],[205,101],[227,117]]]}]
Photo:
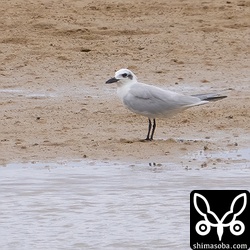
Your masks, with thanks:
[{"label": "brown sandy mudflat the bird stands on, above the water's edge", "polygon": [[[249,148],[249,20],[246,0],[2,0],[0,163],[192,166],[204,150]],[[141,142],[147,118],[105,85],[124,67],[142,82],[228,98],[158,120],[155,140]],[[202,164],[219,162],[234,164]]]}]

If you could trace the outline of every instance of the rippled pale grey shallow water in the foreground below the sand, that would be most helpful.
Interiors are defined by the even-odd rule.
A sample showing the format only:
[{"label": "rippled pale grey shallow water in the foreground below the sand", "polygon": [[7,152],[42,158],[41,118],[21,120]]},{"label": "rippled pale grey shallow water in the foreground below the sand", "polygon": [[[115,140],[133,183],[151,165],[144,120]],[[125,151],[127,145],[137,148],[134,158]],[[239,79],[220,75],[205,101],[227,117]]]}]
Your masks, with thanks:
[{"label": "rippled pale grey shallow water in the foreground below the sand", "polygon": [[249,190],[249,176],[249,167],[0,167],[0,249],[189,249],[190,192]]}]

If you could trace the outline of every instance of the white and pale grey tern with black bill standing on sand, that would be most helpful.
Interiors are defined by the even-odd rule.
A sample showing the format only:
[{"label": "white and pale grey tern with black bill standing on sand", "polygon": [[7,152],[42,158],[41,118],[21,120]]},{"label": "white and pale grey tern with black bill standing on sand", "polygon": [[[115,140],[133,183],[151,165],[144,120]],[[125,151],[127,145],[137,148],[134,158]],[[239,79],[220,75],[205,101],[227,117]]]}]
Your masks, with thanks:
[{"label": "white and pale grey tern with black bill standing on sand", "polygon": [[118,70],[115,77],[106,81],[106,83],[114,82],[117,83],[117,94],[125,107],[136,114],[148,117],[146,140],[153,140],[156,118],[171,117],[193,106],[226,98],[218,94],[183,95],[140,83],[135,74],[128,69]]}]

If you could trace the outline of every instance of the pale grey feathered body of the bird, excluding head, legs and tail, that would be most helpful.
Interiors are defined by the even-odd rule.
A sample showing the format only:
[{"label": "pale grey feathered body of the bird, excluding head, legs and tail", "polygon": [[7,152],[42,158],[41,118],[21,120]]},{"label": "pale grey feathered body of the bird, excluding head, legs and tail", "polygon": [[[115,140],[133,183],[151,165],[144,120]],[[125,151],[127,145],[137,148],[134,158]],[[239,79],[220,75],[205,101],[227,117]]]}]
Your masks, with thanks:
[{"label": "pale grey feathered body of the bird, excluding head, legs and tail", "polygon": [[202,104],[197,97],[146,84],[133,85],[123,102],[133,112],[152,118],[171,116],[190,106]]}]

